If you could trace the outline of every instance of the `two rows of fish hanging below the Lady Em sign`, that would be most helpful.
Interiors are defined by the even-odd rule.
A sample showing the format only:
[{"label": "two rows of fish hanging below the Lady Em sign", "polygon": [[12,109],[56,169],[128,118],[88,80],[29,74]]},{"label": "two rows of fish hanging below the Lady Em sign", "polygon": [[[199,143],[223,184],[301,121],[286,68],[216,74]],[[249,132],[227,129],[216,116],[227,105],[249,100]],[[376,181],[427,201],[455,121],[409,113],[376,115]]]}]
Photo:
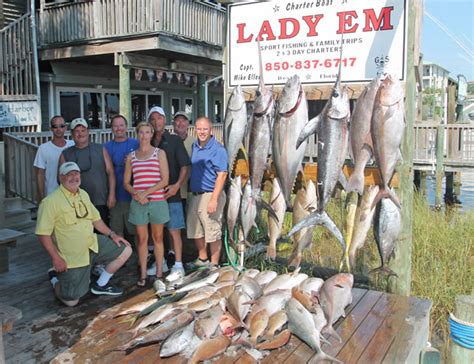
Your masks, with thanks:
[{"label": "two rows of fish hanging below the Lady Em sign", "polygon": [[[401,159],[404,112],[403,86],[391,75],[374,79],[359,97],[351,115],[348,91],[341,84],[339,69],[330,99],[311,120],[308,120],[305,92],[296,75],[288,79],[278,100],[273,99],[260,77],[251,117],[246,115],[242,90],[236,87],[227,106],[225,147],[231,172],[237,151],[243,148],[245,136],[249,135],[249,178],[245,185],[240,176],[231,179],[227,207],[231,241],[248,244],[247,237],[252,226],[256,226],[256,217],[261,208],[265,208],[269,211],[267,256],[275,259],[285,211],[292,211],[293,227],[288,236],[294,236],[294,247],[290,267],[299,267],[302,251],[312,244],[316,225],[326,227],[342,250],[349,252],[354,263],[357,249],[363,246],[375,218],[375,237],[382,259],[379,270],[392,274],[386,263],[401,230],[401,218],[399,199],[389,183]],[[313,134],[318,140],[317,184],[306,181],[291,203],[295,178],[298,171],[303,170],[307,139]],[[354,165],[349,180],[342,171],[348,152]],[[270,165],[269,154],[276,177],[267,203],[261,196],[261,184],[264,171]],[[364,188],[364,169],[373,160],[380,172],[381,184]],[[345,241],[326,212],[338,183],[347,192],[363,195],[358,205],[354,241]],[[234,239],[234,231],[238,231],[237,239]],[[350,246],[346,247],[346,243]]]}]

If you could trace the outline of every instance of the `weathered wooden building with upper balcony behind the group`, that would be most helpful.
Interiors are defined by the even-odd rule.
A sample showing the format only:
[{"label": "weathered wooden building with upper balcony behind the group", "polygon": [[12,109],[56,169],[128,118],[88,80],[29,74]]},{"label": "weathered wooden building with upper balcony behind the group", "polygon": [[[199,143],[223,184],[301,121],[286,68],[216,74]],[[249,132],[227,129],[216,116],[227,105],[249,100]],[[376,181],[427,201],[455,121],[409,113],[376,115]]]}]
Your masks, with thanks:
[{"label": "weathered wooden building with upper balcony behind the group", "polygon": [[[8,1],[2,3],[5,8]],[[27,0],[10,3],[31,9]],[[9,30],[2,29],[0,42],[0,103],[40,102],[40,120],[29,120],[32,124],[47,128],[49,119],[61,114],[66,121],[83,117],[92,128],[102,129],[118,112],[133,123],[144,120],[154,105],[165,109],[168,122],[178,110],[193,119],[206,112],[214,122],[223,119],[225,10],[220,5],[193,0],[37,0],[34,9],[34,17],[26,12],[10,22]],[[31,31],[18,28],[25,18]],[[30,38],[31,45],[18,52],[19,43]],[[34,66],[36,48],[37,69],[20,75],[14,63],[27,58],[25,63]],[[20,80],[26,76],[29,80]],[[27,98],[25,88],[16,83],[35,77],[39,92],[33,88],[28,92],[35,97]]]}]

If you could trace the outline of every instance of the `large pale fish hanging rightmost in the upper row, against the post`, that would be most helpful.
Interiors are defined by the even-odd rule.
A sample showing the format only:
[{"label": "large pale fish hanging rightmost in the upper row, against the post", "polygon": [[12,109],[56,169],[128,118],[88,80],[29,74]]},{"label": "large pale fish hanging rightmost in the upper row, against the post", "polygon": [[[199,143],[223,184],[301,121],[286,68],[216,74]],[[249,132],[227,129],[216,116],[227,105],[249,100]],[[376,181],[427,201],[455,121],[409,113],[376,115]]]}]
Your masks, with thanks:
[{"label": "large pale fish hanging rightmost in the upper row, against the post", "polygon": [[400,145],[405,130],[404,94],[402,84],[392,76],[387,76],[375,96],[370,133],[382,185],[373,206],[382,197],[388,197],[400,208],[398,197],[389,189],[388,184],[397,162],[402,158]]}]

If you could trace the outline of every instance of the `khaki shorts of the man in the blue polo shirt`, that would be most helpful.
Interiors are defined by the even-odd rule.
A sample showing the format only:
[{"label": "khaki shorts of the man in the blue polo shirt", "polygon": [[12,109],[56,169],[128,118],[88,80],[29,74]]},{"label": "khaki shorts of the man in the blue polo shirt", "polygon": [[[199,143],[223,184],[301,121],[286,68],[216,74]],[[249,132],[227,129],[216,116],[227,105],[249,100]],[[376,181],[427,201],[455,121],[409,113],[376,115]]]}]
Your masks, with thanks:
[{"label": "khaki shorts of the man in the blue polo shirt", "polygon": [[207,204],[212,192],[192,196],[186,216],[186,231],[188,239],[204,237],[206,243],[212,243],[222,237],[222,214],[226,201],[225,192],[219,195],[217,210],[213,214],[207,213]]}]

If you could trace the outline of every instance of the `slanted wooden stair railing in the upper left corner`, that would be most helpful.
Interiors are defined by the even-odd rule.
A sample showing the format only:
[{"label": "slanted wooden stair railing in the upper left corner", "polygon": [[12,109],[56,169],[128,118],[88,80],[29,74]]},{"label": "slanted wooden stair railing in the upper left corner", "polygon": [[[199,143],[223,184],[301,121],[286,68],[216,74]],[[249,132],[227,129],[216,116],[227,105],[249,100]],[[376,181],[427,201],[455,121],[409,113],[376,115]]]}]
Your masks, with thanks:
[{"label": "slanted wooden stair railing in the upper left corner", "polygon": [[0,30],[0,98],[36,99],[30,14]]}]

